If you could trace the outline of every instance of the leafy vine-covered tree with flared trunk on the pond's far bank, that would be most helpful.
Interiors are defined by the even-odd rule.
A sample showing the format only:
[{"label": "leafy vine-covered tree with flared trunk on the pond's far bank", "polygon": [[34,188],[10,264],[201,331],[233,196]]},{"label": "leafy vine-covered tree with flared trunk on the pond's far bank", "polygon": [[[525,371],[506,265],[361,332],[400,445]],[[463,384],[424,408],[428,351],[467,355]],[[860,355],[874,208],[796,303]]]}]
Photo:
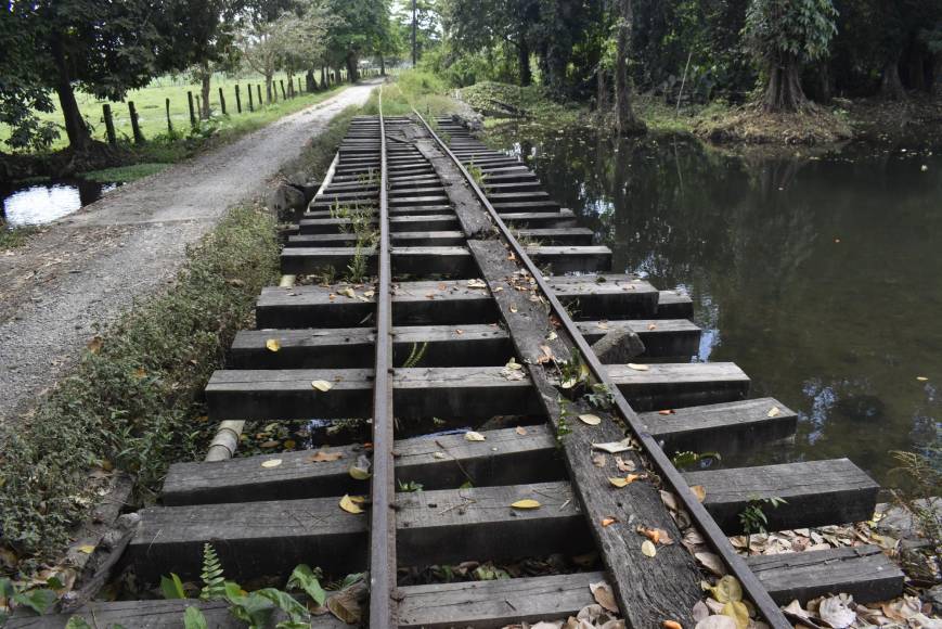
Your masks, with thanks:
[{"label": "leafy vine-covered tree with flared trunk on the pond's far bank", "polygon": [[837,28],[831,0],[752,0],[746,12],[746,43],[762,65],[769,112],[795,112],[808,104],[801,67],[827,54]]}]

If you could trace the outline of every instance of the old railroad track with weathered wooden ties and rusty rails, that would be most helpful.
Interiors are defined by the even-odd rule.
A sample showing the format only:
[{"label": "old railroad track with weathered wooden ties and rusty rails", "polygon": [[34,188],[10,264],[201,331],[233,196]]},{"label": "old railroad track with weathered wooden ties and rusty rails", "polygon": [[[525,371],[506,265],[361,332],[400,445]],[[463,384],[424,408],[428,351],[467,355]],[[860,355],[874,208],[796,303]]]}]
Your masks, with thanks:
[{"label": "old railroad track with weathered wooden ties and rusty rails", "polygon": [[[631,627],[693,627],[708,573],[689,544],[736,576],[757,618],[776,628],[790,626],[778,605],[795,598],[899,594],[902,574],[874,547],[734,552],[726,536],[741,532],[739,514],[757,499],[787,500],[766,511],[770,529],[842,524],[870,518],[878,486],[846,459],[678,471],[678,451],[774,447],[795,433],[796,413],[748,399],[735,364],[689,362],[699,342],[691,300],[611,273],[610,251],[592,243],[526,166],[457,123],[354,118],[281,261],[286,277],[352,267],[371,279],[266,288],[258,330],[237,335],[206,397],[218,421],[372,419],[372,446],[335,445],[323,462],[298,451],[173,465],[163,505],[142,512],[128,547],[139,581],[198,578],[211,542],[241,580],[283,578],[299,563],[369,570],[371,627],[566,618],[594,602],[590,583],[599,581]],[[615,345],[603,358],[628,341],[644,354],[603,362],[590,346],[599,341]],[[416,426],[440,431],[431,418],[474,432],[412,436]],[[351,463],[371,453],[372,477],[351,477]],[[612,487],[629,471],[638,477]],[[403,490],[416,484],[424,489]],[[365,497],[363,513],[340,509],[345,496]],[[521,500],[539,506],[512,506]],[[675,543],[649,556],[638,527]],[[593,551],[589,568],[546,576],[398,578]],[[100,627],[171,627],[186,605],[210,626],[238,626],[224,604],[198,601],[92,603],[80,614]],[[343,624],[327,615],[313,626]]]}]

